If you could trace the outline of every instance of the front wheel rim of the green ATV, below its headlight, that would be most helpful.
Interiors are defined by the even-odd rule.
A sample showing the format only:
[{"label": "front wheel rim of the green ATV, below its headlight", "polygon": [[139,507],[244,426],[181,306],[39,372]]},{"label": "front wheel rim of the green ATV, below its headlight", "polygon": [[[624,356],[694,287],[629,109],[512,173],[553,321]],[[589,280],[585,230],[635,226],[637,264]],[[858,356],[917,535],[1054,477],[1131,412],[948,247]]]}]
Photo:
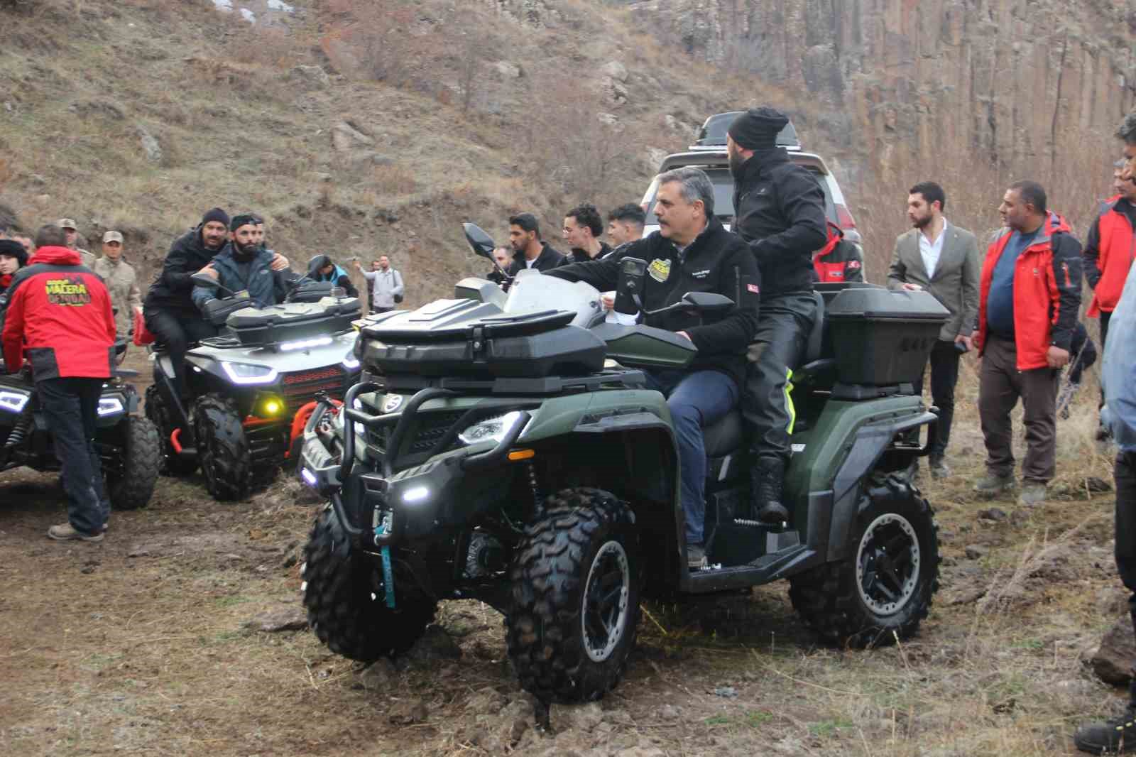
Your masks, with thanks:
[{"label": "front wheel rim of the green ATV, below its headlight", "polygon": [[608,659],[624,638],[630,585],[627,551],[618,541],[605,542],[587,571],[580,613],[584,650],[593,662]]}]

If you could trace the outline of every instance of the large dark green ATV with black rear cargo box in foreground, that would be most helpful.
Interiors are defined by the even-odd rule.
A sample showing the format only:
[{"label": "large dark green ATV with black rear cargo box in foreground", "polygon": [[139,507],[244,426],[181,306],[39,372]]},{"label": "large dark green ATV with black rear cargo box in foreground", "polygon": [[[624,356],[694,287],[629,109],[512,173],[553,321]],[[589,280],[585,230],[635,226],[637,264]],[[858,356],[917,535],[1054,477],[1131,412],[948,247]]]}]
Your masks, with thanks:
[{"label": "large dark green ATV with black rear cargo box in foreground", "polygon": [[[466,235],[488,257],[493,242]],[[634,296],[641,260],[624,261]],[[523,271],[508,296],[467,278],[454,299],[369,316],[364,368],[304,429],[302,480],[329,504],[304,548],[303,601],[333,651],[406,651],[443,599],[506,618],[521,685],[594,700],[619,681],[648,596],[788,579],[827,642],[908,637],[937,589],[932,509],[904,472],[936,416],[913,393],[946,310],[926,292],[827,285],[796,406],[788,523],[751,511],[734,413],[705,430],[710,565],[687,567],[675,434],[644,367],[683,367],[693,346],[607,323],[600,292]],[[693,293],[675,308],[733,307]]]}]

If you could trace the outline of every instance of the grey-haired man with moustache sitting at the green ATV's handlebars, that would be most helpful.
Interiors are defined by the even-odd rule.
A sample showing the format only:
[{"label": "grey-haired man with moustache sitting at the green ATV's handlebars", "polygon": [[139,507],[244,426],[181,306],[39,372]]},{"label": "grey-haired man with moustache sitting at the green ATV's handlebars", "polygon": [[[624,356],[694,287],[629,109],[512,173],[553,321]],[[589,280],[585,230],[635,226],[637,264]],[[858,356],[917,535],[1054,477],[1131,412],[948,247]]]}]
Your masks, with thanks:
[{"label": "grey-haired man with moustache sitting at the green ATV's handlebars", "polygon": [[[642,302],[632,307],[658,310],[687,292],[712,292],[737,307],[712,323],[700,324],[682,310],[648,316],[650,326],[675,331],[698,347],[683,371],[649,371],[648,385],[667,396],[675,419],[686,519],[687,563],[705,559],[707,455],[702,429],[720,421],[737,405],[745,377],[745,350],[758,327],[758,267],[742,239],[726,231],[713,215],[713,185],[698,168],[676,168],[659,177],[655,199],[659,231],[623,248],[623,256],[650,261]],[[616,256],[544,272],[546,276],[584,281],[601,291],[616,289]],[[617,302],[617,309],[629,303]]]}]

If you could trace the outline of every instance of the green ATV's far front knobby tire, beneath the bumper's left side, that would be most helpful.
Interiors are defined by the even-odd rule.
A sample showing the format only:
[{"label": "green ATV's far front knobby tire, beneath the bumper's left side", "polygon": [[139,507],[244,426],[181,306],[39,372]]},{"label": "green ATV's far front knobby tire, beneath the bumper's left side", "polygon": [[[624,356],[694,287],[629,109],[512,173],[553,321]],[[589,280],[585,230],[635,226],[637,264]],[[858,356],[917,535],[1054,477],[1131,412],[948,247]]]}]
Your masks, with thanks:
[{"label": "green ATV's far front knobby tire, beneath the bumper's left side", "polygon": [[[392,550],[393,551],[393,550]],[[373,663],[418,641],[437,604],[399,592],[386,606],[378,558],[356,550],[331,507],[316,518],[303,548],[308,625],[337,655]]]}]

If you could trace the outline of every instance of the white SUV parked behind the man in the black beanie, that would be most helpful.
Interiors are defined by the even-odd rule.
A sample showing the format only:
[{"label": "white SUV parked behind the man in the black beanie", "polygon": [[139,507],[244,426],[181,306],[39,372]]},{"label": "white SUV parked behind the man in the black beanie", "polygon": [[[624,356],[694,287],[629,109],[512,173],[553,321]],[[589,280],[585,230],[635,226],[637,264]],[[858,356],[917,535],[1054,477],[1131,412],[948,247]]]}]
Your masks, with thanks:
[{"label": "white SUV parked behind the man in the black beanie", "polygon": [[[740,115],[742,111],[735,110],[710,116],[699,130],[698,141],[691,145],[687,152],[668,155],[662,165],[659,166],[659,174],[686,166],[704,170],[713,184],[715,216],[726,225],[726,228],[729,228],[734,221],[734,177],[729,173],[729,157],[726,155],[726,130]],[[836,183],[836,177],[828,170],[828,166],[825,165],[820,156],[801,151],[800,139],[797,139],[796,128],[792,122],[777,135],[777,144],[787,150],[790,160],[812,173],[820,184],[820,189],[825,191],[825,215],[841,227],[844,232],[844,239],[859,247],[860,232],[857,231],[855,221],[849,211],[844,193],[841,191],[840,184]],[[643,201],[640,203],[646,211],[644,236],[659,228],[659,222],[653,213],[654,196],[658,190],[659,177],[657,175],[651,185],[648,186],[643,194]]]}]

